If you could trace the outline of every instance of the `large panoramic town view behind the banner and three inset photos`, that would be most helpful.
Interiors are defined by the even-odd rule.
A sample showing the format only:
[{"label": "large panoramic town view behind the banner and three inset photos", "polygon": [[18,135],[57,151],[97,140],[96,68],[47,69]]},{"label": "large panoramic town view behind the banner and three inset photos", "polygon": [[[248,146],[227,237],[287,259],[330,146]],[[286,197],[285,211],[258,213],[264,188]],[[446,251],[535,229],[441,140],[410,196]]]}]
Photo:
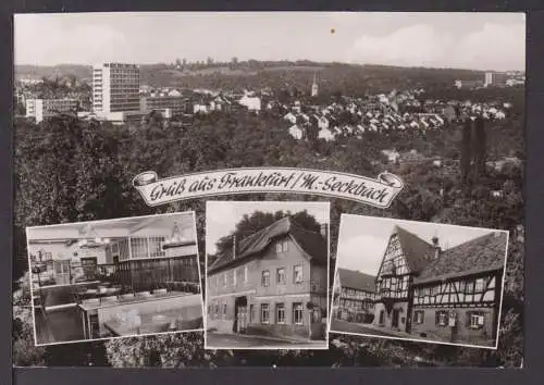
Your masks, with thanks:
[{"label": "large panoramic town view behind the banner and three inset photos", "polygon": [[[14,363],[520,367],[524,30],[506,13],[16,15]],[[342,213],[509,232],[497,349],[333,331],[316,351],[205,350],[202,332],[35,346],[27,226],[195,211],[206,280],[206,201],[149,208],[132,179],[251,166],[403,179],[386,210],[236,196],[330,202],[330,294]]]}]

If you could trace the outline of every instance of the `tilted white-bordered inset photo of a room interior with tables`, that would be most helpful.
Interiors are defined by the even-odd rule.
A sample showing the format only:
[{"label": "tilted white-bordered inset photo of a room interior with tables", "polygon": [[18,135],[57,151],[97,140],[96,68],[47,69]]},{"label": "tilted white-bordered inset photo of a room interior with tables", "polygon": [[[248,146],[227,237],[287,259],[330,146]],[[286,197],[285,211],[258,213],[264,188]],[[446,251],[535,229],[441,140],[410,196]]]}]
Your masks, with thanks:
[{"label": "tilted white-bordered inset photo of a room interior with tables", "polygon": [[36,345],[202,330],[193,212],[26,232]]}]

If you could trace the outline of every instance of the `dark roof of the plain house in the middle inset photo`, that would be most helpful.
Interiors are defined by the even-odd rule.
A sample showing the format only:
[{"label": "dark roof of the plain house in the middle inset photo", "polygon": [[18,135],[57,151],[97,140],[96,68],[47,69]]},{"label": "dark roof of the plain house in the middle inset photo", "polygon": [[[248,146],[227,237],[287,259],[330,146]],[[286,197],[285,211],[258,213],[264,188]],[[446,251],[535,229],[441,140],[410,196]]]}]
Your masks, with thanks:
[{"label": "dark roof of the plain house in the middle inset photo", "polygon": [[327,241],[323,238],[321,233],[305,229],[290,216],[285,216],[272,223],[270,226],[242,239],[236,245],[236,256],[233,258],[231,252],[221,256],[212,263],[208,273],[230,265],[244,258],[258,254],[264,251],[274,239],[285,235],[290,235],[313,262],[326,265],[329,256]]}]

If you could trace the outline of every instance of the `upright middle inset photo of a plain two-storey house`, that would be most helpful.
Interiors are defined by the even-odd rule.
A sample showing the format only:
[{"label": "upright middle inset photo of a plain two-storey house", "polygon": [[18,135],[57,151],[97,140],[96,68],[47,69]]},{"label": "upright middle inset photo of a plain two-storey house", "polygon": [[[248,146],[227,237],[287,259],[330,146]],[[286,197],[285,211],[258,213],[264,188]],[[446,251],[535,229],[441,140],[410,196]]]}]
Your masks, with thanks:
[{"label": "upright middle inset photo of a plain two-storey house", "polygon": [[327,349],[329,223],[329,202],[207,202],[207,349]]}]

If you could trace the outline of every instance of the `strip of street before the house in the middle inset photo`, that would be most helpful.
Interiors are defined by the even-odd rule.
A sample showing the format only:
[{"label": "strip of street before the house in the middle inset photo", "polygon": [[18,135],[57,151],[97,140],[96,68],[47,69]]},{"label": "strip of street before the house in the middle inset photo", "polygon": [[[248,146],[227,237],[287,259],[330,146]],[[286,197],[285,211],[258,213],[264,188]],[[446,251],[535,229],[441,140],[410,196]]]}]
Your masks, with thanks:
[{"label": "strip of street before the house in the middle inset photo", "polygon": [[236,334],[207,333],[206,345],[210,349],[236,349],[236,348],[270,348],[270,349],[296,349],[314,347],[317,349],[326,347],[323,341],[312,340],[308,343],[285,340],[281,338],[264,336],[248,336]]}]

